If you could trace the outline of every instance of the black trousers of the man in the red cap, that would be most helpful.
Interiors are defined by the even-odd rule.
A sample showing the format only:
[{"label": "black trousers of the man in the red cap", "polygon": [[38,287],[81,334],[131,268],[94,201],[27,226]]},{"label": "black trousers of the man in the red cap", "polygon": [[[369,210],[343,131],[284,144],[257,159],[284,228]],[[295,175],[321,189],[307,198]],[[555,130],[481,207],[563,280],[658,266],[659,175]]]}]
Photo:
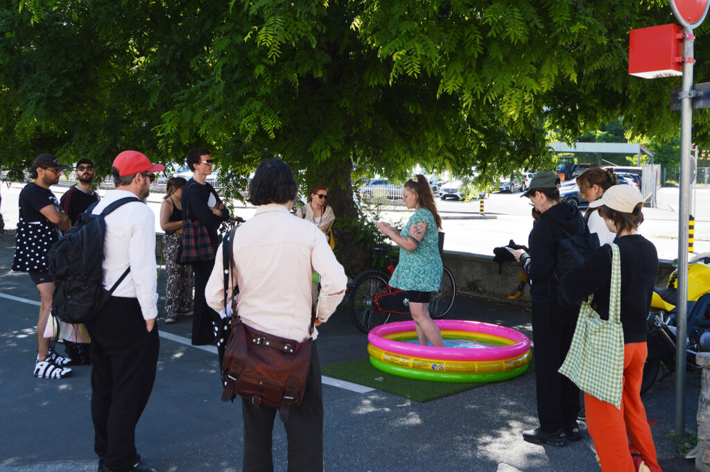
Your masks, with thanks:
[{"label": "black trousers of the man in the red cap", "polygon": [[146,331],[138,299],[111,297],[86,326],[94,362],[94,451],[109,471],[132,471],[136,424],[151,396],[158,365],[158,325]]}]

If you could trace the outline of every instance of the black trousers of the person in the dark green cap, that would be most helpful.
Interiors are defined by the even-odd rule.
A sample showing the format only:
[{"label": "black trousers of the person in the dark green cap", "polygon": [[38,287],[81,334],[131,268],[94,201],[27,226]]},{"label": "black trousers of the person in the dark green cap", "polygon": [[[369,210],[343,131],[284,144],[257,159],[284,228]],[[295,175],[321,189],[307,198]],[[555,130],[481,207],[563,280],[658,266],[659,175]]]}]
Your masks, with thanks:
[{"label": "black trousers of the person in the dark green cap", "polygon": [[577,422],[579,388],[557,369],[569,351],[578,315],[578,308],[562,308],[557,302],[532,303],[537,417],[545,432]]}]

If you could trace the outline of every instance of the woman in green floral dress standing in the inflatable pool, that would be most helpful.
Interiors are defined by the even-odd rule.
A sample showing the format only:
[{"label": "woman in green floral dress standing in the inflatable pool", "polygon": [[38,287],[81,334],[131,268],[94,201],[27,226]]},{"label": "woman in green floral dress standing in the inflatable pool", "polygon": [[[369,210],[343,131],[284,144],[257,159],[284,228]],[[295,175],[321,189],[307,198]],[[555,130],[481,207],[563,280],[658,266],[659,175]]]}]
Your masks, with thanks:
[{"label": "woman in green floral dress standing in the inflatable pool", "polygon": [[432,189],[424,175],[408,180],[403,189],[408,209],[416,212],[404,229],[397,231],[391,224],[375,221],[382,234],[391,238],[404,251],[390,278],[390,286],[407,290],[409,309],[416,324],[419,344],[443,347],[439,326],[429,316],[431,292],[439,290],[444,266],[439,255],[439,228],[442,219],[437,213]]}]

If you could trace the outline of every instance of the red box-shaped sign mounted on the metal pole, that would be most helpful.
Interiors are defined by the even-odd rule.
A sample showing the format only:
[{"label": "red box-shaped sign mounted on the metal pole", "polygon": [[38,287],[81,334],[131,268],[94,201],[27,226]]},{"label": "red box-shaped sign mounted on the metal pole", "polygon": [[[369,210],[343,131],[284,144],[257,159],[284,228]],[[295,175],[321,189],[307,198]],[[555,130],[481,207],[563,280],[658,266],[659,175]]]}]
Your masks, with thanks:
[{"label": "red box-shaped sign mounted on the metal pole", "polygon": [[644,79],[683,75],[680,26],[670,23],[629,32],[628,73]]}]

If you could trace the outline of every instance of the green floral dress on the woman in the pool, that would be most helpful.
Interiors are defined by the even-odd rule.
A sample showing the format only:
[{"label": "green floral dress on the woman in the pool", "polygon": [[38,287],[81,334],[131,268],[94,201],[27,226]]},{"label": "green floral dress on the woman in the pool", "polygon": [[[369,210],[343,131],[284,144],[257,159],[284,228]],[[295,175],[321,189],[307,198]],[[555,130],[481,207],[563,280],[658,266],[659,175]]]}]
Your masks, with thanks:
[{"label": "green floral dress on the woman in the pool", "polygon": [[432,212],[426,208],[418,209],[400,236],[408,238],[410,226],[420,221],[427,224],[427,231],[414,251],[400,250],[400,261],[390,278],[391,287],[419,292],[439,290],[444,268],[439,255],[439,229]]}]

